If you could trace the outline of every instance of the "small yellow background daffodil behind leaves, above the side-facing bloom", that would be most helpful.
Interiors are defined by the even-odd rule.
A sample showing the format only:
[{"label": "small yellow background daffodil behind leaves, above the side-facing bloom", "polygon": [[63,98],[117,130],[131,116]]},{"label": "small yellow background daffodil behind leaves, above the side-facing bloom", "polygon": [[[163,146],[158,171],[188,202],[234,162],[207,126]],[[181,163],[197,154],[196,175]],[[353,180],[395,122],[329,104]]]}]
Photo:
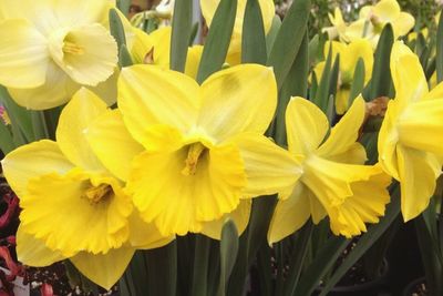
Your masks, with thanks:
[{"label": "small yellow background daffodil behind leaves, above the side-facing bloom", "polygon": [[[331,43],[332,42],[332,43]],[[348,110],[349,95],[351,92],[354,70],[359,59],[364,62],[364,83],[368,83],[372,74],[373,50],[368,40],[359,39],[349,44],[337,41],[327,42],[324,44],[324,54],[328,54],[330,45],[332,45],[332,64],[337,57],[340,55],[340,73],[336,98],[336,111],[343,114]],[[316,75],[320,79],[326,62],[316,65]]]}]

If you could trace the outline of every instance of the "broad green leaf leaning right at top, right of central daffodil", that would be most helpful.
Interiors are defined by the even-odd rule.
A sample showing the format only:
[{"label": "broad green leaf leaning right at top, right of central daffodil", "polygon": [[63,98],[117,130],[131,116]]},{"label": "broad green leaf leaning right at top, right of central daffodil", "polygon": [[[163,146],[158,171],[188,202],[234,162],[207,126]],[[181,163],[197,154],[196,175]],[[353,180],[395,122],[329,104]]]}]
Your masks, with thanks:
[{"label": "broad green leaf leaning right at top, right of central daffodil", "polygon": [[268,65],[274,67],[280,89],[300,49],[310,12],[310,0],[295,0],[289,8],[269,53]]}]

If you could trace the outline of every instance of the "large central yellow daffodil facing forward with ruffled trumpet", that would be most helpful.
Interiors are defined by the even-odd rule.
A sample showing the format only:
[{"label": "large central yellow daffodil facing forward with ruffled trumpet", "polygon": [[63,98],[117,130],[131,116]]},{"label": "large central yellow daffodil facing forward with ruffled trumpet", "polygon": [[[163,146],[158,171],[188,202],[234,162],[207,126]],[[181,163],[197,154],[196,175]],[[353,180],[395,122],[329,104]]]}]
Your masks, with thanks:
[{"label": "large central yellow daffodil facing forward with ruffled trumpet", "polygon": [[[204,232],[243,198],[277,193],[300,174],[296,159],[262,135],[277,104],[269,68],[238,65],[198,85],[134,65],[122,70],[119,89],[121,114],[97,121],[89,140],[164,235]],[[130,154],[132,165],[120,157]]]}]

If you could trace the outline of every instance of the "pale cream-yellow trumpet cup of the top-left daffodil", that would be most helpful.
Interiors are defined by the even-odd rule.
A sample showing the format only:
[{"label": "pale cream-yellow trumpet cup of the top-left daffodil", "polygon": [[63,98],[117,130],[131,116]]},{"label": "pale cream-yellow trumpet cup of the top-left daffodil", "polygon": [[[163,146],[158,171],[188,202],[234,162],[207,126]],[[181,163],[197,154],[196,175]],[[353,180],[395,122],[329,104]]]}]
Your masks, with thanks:
[{"label": "pale cream-yellow trumpet cup of the top-left daffodil", "polygon": [[117,63],[117,44],[101,24],[59,30],[49,40],[52,59],[78,83],[95,86],[109,79]]}]

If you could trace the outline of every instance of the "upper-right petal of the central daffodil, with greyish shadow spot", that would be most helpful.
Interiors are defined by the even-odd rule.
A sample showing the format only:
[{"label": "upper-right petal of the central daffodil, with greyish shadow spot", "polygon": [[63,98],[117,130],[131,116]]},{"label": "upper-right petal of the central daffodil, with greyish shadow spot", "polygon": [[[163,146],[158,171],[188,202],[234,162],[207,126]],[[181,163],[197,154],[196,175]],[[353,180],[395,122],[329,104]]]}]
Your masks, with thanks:
[{"label": "upper-right petal of the central daffodil, with greyish shadow spot", "polygon": [[265,133],[277,106],[272,69],[241,64],[216,72],[202,85],[198,125],[217,141],[241,132]]}]

